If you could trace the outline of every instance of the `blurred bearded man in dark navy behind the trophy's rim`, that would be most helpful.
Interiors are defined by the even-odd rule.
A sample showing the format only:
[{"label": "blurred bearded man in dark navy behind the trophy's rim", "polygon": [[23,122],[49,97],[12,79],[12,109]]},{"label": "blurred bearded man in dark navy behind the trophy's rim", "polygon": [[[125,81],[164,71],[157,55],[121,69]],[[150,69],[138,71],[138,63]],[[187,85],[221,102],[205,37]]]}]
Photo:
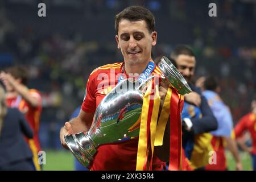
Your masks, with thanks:
[{"label": "blurred bearded man in dark navy behind the trophy's rim", "polygon": [[[183,123],[183,170],[200,169],[208,164],[211,135],[217,129],[217,121],[200,88],[192,84],[195,74],[196,58],[191,49],[177,46],[171,53],[177,69],[188,82],[192,92],[185,94],[181,113]],[[185,158],[186,157],[186,158]],[[189,162],[191,161],[191,163]]]}]

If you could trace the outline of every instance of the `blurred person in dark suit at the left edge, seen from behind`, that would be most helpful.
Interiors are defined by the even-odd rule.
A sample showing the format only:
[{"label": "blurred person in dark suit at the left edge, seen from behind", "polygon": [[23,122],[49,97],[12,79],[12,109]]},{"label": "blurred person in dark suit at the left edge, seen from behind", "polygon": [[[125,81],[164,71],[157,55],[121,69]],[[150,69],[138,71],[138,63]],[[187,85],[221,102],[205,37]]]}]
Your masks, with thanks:
[{"label": "blurred person in dark suit at the left edge, seen from behind", "polygon": [[0,170],[35,170],[23,135],[33,138],[33,131],[18,109],[6,106],[5,91],[0,85]]}]

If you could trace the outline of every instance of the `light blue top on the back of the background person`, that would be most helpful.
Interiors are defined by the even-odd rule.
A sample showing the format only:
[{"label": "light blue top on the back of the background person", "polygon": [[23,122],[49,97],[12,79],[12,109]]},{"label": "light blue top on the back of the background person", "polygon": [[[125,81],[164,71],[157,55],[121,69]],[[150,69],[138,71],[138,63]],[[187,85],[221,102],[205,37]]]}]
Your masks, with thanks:
[{"label": "light blue top on the back of the background person", "polygon": [[228,107],[215,92],[206,90],[203,95],[210,101],[210,109],[212,109],[218,122],[218,129],[210,133],[216,137],[230,137],[233,129],[233,120]]}]

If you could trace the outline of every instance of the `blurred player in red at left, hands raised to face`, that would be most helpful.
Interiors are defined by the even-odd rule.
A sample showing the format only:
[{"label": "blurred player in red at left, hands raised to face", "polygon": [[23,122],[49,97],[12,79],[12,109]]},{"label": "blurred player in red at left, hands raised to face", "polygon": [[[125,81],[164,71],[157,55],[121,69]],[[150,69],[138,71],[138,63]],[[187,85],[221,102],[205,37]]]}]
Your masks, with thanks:
[{"label": "blurred player in red at left, hands raised to face", "polygon": [[41,151],[39,142],[40,114],[42,112],[41,96],[38,90],[28,89],[28,71],[22,66],[14,66],[0,73],[0,79],[5,84],[7,94],[7,106],[18,108],[23,114],[33,130],[33,139],[27,142],[32,150],[33,161],[37,170],[40,170],[38,162],[38,152]]}]

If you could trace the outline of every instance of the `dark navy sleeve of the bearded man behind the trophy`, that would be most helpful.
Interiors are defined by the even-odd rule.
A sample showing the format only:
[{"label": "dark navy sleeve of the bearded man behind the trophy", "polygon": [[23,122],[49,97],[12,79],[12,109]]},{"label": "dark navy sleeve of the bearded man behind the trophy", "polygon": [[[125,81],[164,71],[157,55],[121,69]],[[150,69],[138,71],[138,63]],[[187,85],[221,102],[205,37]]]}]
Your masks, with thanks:
[{"label": "dark navy sleeve of the bearded man behind the trophy", "polygon": [[201,96],[200,110],[202,114],[202,118],[191,118],[191,121],[193,123],[193,132],[195,134],[200,134],[216,130],[218,127],[217,120],[214,117],[206,98],[201,94],[199,88],[191,86],[191,89],[199,93]]}]

